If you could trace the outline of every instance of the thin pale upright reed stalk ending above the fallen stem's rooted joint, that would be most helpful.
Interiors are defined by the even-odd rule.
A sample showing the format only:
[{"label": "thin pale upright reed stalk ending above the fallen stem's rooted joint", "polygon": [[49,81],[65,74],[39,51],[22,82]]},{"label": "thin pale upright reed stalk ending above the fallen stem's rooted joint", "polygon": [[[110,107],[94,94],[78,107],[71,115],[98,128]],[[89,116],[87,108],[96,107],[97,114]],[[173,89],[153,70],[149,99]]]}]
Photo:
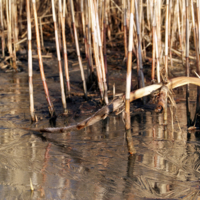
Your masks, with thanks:
[{"label": "thin pale upright reed stalk ending above the fallen stem's rooted joint", "polygon": [[165,11],[165,76],[168,78],[168,20],[169,20],[169,0],[166,0]]}]

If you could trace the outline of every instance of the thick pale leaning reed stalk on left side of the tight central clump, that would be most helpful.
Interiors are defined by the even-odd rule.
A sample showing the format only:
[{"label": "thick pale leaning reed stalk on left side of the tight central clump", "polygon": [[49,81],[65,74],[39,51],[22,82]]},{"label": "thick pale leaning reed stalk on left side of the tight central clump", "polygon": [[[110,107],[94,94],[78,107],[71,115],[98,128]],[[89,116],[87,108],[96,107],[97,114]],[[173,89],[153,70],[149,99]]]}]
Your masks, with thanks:
[{"label": "thick pale leaning reed stalk on left side of the tight central clump", "polygon": [[89,12],[90,12],[90,18],[91,18],[91,24],[92,24],[92,40],[93,40],[93,52],[94,52],[94,60],[95,60],[95,65],[96,65],[96,71],[97,71],[97,78],[98,78],[98,85],[99,85],[99,90],[101,94],[101,98],[104,98],[104,86],[103,86],[103,75],[100,67],[100,61],[99,61],[99,53],[98,53],[98,38],[97,38],[97,30],[95,27],[96,24],[96,19],[95,19],[95,13],[94,13],[94,5],[92,0],[89,0],[88,2],[88,7],[89,7]]}]

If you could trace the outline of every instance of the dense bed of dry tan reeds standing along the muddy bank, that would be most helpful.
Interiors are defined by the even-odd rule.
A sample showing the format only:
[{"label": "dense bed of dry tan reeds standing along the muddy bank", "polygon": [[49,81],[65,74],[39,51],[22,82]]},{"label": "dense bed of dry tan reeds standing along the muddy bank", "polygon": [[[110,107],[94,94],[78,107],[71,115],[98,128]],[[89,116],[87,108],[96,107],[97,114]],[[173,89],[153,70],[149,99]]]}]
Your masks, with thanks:
[{"label": "dense bed of dry tan reeds standing along the muddy bank", "polygon": [[[196,64],[197,74],[200,73],[199,5],[200,0],[32,0],[32,3],[30,0],[0,0],[1,57],[7,57],[9,66],[17,71],[16,53],[28,41],[30,113],[32,121],[35,121],[32,40],[37,41],[41,79],[52,117],[55,110],[48,92],[41,53],[45,50],[44,32],[49,34],[49,39],[55,38],[64,112],[67,110],[66,96],[70,97],[71,93],[67,43],[72,42],[76,46],[85,98],[88,96],[86,82],[96,74],[100,99],[109,105],[107,48],[113,48],[116,41],[121,42],[121,54],[124,55],[121,63],[127,67],[125,113],[128,130],[134,59],[137,60],[138,89],[144,88],[144,91],[145,85],[151,84],[145,82],[143,74],[143,64],[147,62],[151,63],[152,83],[167,83],[169,77],[172,78],[171,71],[176,62],[180,61],[187,77],[191,76],[191,61]],[[54,34],[44,28],[43,19],[48,19],[48,22],[45,20],[48,27],[54,27]],[[80,45],[84,46],[87,76]]]}]

